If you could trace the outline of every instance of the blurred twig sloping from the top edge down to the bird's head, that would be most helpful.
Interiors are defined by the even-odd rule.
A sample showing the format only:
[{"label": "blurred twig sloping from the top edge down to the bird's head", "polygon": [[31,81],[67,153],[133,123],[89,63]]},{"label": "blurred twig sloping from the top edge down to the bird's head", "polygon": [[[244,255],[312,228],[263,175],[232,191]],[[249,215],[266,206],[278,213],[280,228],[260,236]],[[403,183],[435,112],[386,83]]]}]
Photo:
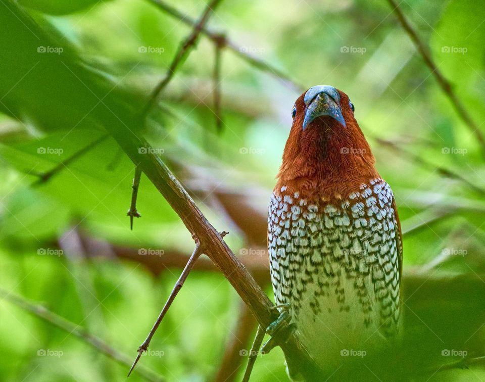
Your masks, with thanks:
[{"label": "blurred twig sloping from the top edge down to the bird's head", "polygon": [[[158,8],[160,8],[161,10],[163,10],[164,12],[166,12],[168,15],[178,19],[179,21],[181,21],[181,22],[183,22],[187,25],[195,26],[197,24],[197,22],[195,20],[193,20],[189,16],[183,14],[182,12],[177,10],[176,8],[173,8],[172,6],[166,4],[163,0],[149,0],[149,1],[152,4],[156,5]],[[221,35],[218,32],[213,31],[208,27],[202,28],[201,33],[206,35],[208,38],[210,38],[215,43],[218,43],[217,41],[221,37]],[[262,70],[266,73],[271,74],[272,76],[278,78],[280,81],[284,82],[285,84],[289,85],[290,87],[294,88],[295,90],[303,91],[303,90],[306,89],[306,87],[299,84],[298,82],[296,82],[295,80],[290,78],[288,75],[283,73],[281,70],[274,67],[273,65],[269,64],[268,62],[266,62],[266,61],[264,61],[260,58],[253,57],[250,54],[248,54],[247,52],[245,52],[243,49],[241,49],[242,48],[241,45],[236,44],[236,43],[234,43],[234,42],[232,42],[228,39],[225,39],[224,47],[227,48],[229,51],[233,52],[235,55],[237,55],[241,59],[243,59],[244,61],[246,61],[251,66],[253,66],[253,67],[255,67],[259,70]]]}]

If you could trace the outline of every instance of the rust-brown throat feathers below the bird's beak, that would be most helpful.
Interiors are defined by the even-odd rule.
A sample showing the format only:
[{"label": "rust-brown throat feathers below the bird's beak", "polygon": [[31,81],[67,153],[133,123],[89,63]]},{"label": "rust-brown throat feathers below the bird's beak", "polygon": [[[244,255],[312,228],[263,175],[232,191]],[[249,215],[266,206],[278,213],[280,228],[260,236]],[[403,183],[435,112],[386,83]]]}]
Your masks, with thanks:
[{"label": "rust-brown throat feathers below the bird's beak", "polygon": [[288,193],[299,192],[308,199],[345,199],[362,183],[379,177],[354,118],[343,127],[320,117],[306,130],[297,119],[286,141],[276,192],[284,185]]}]

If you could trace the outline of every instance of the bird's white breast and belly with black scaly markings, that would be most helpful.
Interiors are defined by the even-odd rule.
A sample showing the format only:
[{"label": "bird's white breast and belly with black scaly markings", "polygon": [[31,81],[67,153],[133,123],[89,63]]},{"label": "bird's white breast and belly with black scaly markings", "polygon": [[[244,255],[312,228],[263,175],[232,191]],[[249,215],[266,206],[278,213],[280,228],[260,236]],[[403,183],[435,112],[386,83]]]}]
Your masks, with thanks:
[{"label": "bird's white breast and belly with black scaly markings", "polygon": [[285,186],[272,195],[268,250],[275,300],[290,304],[304,345],[322,359],[397,331],[400,244],[393,198],[380,178],[338,203],[306,200]]}]

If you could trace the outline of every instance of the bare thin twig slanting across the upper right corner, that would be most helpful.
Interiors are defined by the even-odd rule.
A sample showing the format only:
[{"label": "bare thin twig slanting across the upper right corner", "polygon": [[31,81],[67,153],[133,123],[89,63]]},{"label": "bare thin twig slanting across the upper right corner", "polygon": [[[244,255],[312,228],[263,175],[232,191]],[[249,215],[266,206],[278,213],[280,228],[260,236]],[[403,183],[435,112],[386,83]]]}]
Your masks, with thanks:
[{"label": "bare thin twig slanting across the upper right corner", "polygon": [[460,116],[460,118],[465,122],[468,126],[470,131],[475,134],[476,139],[478,140],[478,144],[480,145],[482,155],[485,156],[485,138],[483,134],[478,129],[478,125],[473,121],[468,111],[465,109],[459,98],[457,97],[453,87],[451,86],[450,81],[443,75],[443,73],[438,69],[438,66],[434,63],[431,56],[429,55],[424,43],[419,39],[416,31],[412,27],[412,25],[408,22],[406,17],[404,16],[403,12],[399,8],[399,5],[396,3],[395,0],[387,0],[391,7],[393,8],[394,12],[396,13],[401,25],[403,26],[404,30],[409,34],[409,37],[413,40],[414,44],[418,52],[421,54],[424,62],[431,70],[431,73],[437,79],[440,87],[446,93],[448,98],[450,99],[452,105],[454,106],[456,112]]}]

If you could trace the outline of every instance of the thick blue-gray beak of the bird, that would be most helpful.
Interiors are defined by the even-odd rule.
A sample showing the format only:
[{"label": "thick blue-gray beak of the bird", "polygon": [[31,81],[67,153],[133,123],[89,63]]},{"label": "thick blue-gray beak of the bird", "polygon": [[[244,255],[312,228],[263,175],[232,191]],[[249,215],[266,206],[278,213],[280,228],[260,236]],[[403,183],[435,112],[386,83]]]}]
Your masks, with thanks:
[{"label": "thick blue-gray beak of the bird", "polygon": [[318,85],[308,89],[303,99],[307,107],[303,130],[318,117],[328,115],[346,127],[340,108],[340,93],[333,86]]}]

